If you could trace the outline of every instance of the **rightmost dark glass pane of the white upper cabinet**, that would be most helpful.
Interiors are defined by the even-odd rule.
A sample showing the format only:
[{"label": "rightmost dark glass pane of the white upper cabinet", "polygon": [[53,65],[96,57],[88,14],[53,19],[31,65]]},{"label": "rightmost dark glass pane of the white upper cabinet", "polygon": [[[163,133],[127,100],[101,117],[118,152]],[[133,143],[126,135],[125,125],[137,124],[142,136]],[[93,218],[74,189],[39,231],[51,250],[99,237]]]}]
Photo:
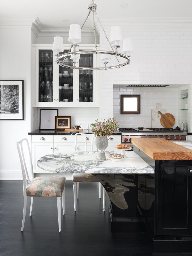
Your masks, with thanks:
[{"label": "rightmost dark glass pane of the white upper cabinet", "polygon": [[[93,54],[80,54],[80,67],[93,67]],[[95,101],[93,95],[93,70],[79,70],[79,103],[87,104],[87,102]]]}]

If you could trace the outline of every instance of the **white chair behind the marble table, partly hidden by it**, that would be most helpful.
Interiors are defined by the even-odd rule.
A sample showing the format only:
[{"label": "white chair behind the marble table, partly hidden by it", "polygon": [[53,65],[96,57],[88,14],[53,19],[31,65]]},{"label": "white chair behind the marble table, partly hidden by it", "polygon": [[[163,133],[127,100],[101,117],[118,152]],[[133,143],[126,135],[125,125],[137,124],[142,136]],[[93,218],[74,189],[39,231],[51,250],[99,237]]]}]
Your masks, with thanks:
[{"label": "white chair behind the marble table, partly hidden by it", "polygon": [[[75,134],[75,151],[78,151],[77,147],[77,136],[81,135],[84,138],[85,151],[87,150],[87,140],[91,138],[91,150],[93,151],[93,140],[94,134],[92,133],[76,133]],[[76,212],[76,201],[79,198],[79,182],[99,182],[99,180],[90,173],[73,173],[73,197],[74,197],[74,210]],[[99,182],[99,199],[101,198],[101,183]],[[105,212],[105,200],[106,200],[106,190],[103,187],[103,211]]]}]

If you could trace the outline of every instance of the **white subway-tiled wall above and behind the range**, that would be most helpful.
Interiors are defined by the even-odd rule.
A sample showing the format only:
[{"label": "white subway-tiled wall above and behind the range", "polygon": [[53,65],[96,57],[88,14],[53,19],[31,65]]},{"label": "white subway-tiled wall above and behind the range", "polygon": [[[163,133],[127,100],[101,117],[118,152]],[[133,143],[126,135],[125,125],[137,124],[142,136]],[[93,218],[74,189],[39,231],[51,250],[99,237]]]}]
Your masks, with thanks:
[{"label": "white subway-tiled wall above and behind the range", "polygon": [[[119,22],[119,23],[118,23]],[[114,25],[113,20],[104,20],[103,26],[109,36],[110,26]],[[178,97],[177,92],[173,89],[171,94],[167,94],[169,89],[143,89],[135,88],[136,93],[141,92],[146,95],[142,100],[141,115],[121,115],[119,116],[119,97],[118,91],[115,91],[115,99],[113,101],[113,84],[192,84],[192,27],[185,22],[148,22],[147,25],[142,22],[132,22],[131,20],[123,23],[116,21],[116,25],[122,27],[123,38],[132,38],[134,53],[131,62],[124,68],[116,68],[100,71],[100,117],[108,118],[114,116],[121,120],[120,124],[125,126],[150,126],[151,108],[155,108],[155,103],[162,103],[163,107],[176,116],[179,120]],[[121,23],[121,24],[120,24]],[[100,30],[100,48],[107,47],[106,38]],[[110,64],[116,63],[114,59]],[[101,63],[102,64],[102,63]],[[139,91],[141,90],[141,91]],[[144,91],[147,90],[147,91]],[[158,92],[158,93],[155,93]],[[132,93],[131,89],[127,89],[124,93]],[[153,93],[153,94],[152,94]],[[156,95],[156,99],[152,95]],[[165,99],[164,102],[158,99],[158,95]],[[174,109],[174,98],[175,109]],[[168,102],[169,101],[169,102]],[[191,104],[191,101],[189,102]],[[147,119],[144,120],[144,111]],[[191,113],[189,111],[190,117]],[[124,116],[124,117],[123,117]],[[141,117],[141,121],[139,118]],[[144,120],[145,122],[142,122]],[[127,122],[126,122],[127,121]],[[191,123],[191,122],[190,122]],[[145,125],[144,125],[145,124]],[[180,124],[179,124],[180,125]],[[137,127],[137,126],[136,126]],[[192,127],[192,126],[191,126]]]}]

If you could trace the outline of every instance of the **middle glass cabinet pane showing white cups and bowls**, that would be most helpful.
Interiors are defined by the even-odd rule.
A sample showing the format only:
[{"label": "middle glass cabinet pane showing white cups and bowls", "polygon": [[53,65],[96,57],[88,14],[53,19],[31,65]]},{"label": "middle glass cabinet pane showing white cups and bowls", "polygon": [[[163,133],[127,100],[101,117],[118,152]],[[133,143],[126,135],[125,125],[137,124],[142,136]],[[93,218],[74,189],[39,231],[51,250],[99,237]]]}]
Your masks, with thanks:
[{"label": "middle glass cabinet pane showing white cups and bowls", "polygon": [[[62,53],[66,53],[68,50],[64,50]],[[60,52],[60,54],[62,54]],[[65,59],[65,63],[68,66],[73,66],[73,60],[70,58]],[[57,80],[56,84],[59,85],[59,88],[57,87],[57,104],[74,104],[74,92],[75,92],[75,84],[74,84],[74,72],[71,68],[65,68],[59,66],[59,80]],[[59,94],[58,94],[59,93]]]}]

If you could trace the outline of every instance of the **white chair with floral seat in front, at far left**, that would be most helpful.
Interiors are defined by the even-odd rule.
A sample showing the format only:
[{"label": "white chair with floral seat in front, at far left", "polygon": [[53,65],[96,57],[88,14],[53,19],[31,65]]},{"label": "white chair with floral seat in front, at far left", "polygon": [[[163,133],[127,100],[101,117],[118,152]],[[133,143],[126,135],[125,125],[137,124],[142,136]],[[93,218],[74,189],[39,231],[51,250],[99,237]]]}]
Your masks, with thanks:
[{"label": "white chair with floral seat in front, at far left", "polygon": [[[25,155],[23,152],[23,142],[27,144],[27,153],[25,150]],[[58,213],[58,224],[59,232],[61,231],[61,198],[62,198],[62,208],[63,215],[65,214],[65,177],[64,176],[42,176],[34,178],[33,164],[31,159],[31,152],[29,148],[29,143],[27,139],[23,139],[17,142],[17,149],[20,158],[21,172],[23,178],[23,220],[21,231],[23,231],[25,224],[25,215],[27,208],[27,196],[31,197],[31,205],[29,216],[32,214],[33,207],[33,197],[57,197],[57,213]],[[29,166],[31,171],[30,180],[28,174],[28,168],[26,164],[26,156],[28,154]],[[27,160],[28,160],[27,159]]]}]

